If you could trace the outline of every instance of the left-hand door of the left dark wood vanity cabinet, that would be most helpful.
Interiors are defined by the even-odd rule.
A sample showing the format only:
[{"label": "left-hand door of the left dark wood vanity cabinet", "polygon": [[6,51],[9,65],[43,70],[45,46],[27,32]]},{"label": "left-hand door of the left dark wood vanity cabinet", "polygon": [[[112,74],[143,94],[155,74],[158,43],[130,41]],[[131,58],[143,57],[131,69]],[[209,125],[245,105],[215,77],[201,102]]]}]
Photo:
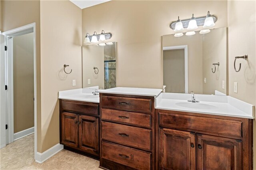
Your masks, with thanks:
[{"label": "left-hand door of the left dark wood vanity cabinet", "polygon": [[67,112],[61,114],[61,143],[78,147],[78,115]]}]

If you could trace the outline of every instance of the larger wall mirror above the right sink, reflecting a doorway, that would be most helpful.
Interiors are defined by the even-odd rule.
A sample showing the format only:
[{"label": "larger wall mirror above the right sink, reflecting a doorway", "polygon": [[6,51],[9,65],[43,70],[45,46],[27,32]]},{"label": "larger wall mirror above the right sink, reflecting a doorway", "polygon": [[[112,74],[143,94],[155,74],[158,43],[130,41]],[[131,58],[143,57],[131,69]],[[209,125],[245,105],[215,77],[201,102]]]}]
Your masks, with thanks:
[{"label": "larger wall mirror above the right sink, reflecting a doorway", "polygon": [[165,35],[162,45],[165,92],[227,95],[227,28]]}]

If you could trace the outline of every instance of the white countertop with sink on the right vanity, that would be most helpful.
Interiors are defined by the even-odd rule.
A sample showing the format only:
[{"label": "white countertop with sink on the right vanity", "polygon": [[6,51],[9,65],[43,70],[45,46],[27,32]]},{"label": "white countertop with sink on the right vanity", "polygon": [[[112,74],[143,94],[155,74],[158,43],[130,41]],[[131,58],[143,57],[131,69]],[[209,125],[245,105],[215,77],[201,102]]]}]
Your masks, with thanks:
[{"label": "white countertop with sink on the right vanity", "polygon": [[[196,95],[200,103],[191,103],[194,108],[179,106],[180,103],[189,103],[191,94],[161,93],[156,98],[156,109],[202,113],[230,117],[242,117],[254,119],[254,105],[245,103],[230,96],[220,95]],[[178,103],[178,104],[177,104]],[[196,109],[200,104],[210,105],[210,109]]]}]

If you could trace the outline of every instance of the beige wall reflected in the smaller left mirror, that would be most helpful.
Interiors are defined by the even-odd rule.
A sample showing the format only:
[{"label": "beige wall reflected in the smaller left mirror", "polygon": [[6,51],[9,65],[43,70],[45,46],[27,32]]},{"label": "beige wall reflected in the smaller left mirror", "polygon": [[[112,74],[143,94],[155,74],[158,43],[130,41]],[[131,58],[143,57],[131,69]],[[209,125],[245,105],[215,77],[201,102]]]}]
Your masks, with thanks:
[{"label": "beige wall reflected in the smaller left mirror", "polygon": [[[83,46],[83,87],[99,86],[99,88],[104,88],[104,47]],[[98,74],[94,73],[93,67],[98,68]],[[88,85],[88,79],[91,79],[90,85]]]}]

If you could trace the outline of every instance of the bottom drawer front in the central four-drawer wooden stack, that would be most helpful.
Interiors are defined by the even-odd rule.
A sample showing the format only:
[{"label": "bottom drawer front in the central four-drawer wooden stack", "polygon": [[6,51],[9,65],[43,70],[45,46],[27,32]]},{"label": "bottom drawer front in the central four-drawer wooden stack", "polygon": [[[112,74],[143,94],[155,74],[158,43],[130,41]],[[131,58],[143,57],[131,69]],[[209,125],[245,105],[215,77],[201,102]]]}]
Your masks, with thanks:
[{"label": "bottom drawer front in the central four-drawer wooden stack", "polygon": [[138,170],[151,169],[151,153],[102,141],[102,158]]}]

